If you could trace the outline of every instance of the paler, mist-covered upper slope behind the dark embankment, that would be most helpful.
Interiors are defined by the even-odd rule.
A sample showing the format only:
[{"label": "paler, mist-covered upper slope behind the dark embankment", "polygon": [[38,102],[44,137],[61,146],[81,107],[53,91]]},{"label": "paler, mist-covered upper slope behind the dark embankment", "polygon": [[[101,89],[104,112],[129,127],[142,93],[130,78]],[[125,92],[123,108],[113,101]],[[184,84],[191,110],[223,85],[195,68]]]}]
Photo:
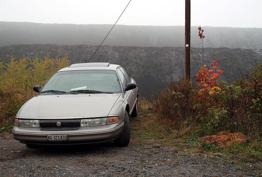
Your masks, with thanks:
[{"label": "paler, mist-covered upper slope behind the dark embankment", "polygon": [[[100,45],[113,25],[43,24],[0,21],[0,47],[14,44]],[[209,27],[204,47],[262,49],[262,28]],[[184,47],[184,26],[115,25],[103,45]],[[202,47],[191,26],[191,47]]]}]

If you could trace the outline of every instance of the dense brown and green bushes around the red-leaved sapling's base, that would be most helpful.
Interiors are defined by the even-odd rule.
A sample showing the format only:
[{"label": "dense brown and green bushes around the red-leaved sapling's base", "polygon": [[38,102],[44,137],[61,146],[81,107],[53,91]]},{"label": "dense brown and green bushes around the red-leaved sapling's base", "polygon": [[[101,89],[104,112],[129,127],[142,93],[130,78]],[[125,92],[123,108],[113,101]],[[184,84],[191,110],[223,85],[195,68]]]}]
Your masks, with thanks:
[{"label": "dense brown and green bushes around the red-leaved sapling's base", "polygon": [[153,109],[172,129],[193,126],[198,134],[230,130],[261,139],[262,65],[250,70],[247,79],[219,83],[216,94],[201,92],[190,79],[178,78],[153,94]]}]

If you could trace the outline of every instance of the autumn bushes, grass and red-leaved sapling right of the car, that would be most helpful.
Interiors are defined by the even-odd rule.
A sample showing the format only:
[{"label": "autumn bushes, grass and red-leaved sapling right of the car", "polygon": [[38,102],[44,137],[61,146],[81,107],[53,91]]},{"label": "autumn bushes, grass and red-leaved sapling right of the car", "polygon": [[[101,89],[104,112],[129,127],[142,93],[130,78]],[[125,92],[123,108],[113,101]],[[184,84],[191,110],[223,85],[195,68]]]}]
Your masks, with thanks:
[{"label": "autumn bushes, grass and red-leaved sapling right of the car", "polygon": [[[201,26],[198,30],[203,45],[204,30]],[[213,60],[209,69],[203,57],[204,47],[203,67],[194,76],[198,88],[193,87],[190,78],[179,77],[149,100],[140,99],[141,110],[147,110],[150,118],[141,120],[145,121],[144,128],[136,129],[134,136],[144,139],[149,134],[147,142],[154,139],[154,143],[165,145],[262,158],[262,64],[248,68],[251,73],[248,77],[227,84],[218,82],[223,71],[217,61]],[[225,130],[244,133],[249,140],[237,143],[232,139],[230,145],[198,140],[203,135]]]}]

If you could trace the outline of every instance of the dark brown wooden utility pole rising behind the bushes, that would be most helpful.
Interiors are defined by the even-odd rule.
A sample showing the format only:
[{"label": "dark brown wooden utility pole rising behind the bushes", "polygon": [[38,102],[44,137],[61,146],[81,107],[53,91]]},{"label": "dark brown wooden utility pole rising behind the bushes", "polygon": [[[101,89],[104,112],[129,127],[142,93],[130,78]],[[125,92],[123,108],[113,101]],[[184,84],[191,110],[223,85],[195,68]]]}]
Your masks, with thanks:
[{"label": "dark brown wooden utility pole rising behind the bushes", "polygon": [[190,77],[190,0],[186,0],[185,17],[185,77]]}]

